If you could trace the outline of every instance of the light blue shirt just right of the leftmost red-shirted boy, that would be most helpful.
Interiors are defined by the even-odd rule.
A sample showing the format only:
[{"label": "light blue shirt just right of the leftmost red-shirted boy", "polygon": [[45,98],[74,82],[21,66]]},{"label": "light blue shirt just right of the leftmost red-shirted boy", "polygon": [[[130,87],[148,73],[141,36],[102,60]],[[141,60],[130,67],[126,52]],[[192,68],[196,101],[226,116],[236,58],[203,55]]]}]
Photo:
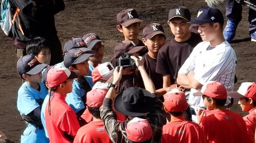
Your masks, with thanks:
[{"label": "light blue shirt just right of the leftmost red-shirted boy", "polygon": [[67,104],[77,113],[78,111],[85,108],[82,97],[86,95],[85,89],[81,88],[82,84],[74,80],[72,92],[67,94],[66,102]]}]

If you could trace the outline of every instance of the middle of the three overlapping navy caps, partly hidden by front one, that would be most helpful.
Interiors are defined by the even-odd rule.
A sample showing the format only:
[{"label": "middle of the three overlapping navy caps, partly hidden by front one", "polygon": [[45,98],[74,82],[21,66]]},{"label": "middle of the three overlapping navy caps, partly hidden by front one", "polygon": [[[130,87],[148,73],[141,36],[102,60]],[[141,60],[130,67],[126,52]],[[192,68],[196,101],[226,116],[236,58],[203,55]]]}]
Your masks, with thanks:
[{"label": "middle of the three overlapping navy caps, partly hidden by front one", "polygon": [[87,48],[86,43],[83,41],[82,38],[72,38],[68,42],[65,43],[63,49],[63,55],[73,48]]}]

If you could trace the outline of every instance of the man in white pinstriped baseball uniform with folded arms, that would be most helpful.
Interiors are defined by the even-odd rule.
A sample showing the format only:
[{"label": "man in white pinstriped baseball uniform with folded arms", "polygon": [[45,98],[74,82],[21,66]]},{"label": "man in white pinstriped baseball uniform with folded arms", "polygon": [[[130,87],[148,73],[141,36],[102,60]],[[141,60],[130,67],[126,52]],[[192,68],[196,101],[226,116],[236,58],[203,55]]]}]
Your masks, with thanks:
[{"label": "man in white pinstriped baseball uniform with folded arms", "polygon": [[[200,8],[197,18],[189,23],[197,24],[198,33],[203,42],[199,43],[178,72],[177,83],[184,88],[191,88],[188,104],[192,121],[197,122],[197,112],[206,108],[202,97],[193,93],[200,91],[207,81],[222,83],[228,92],[234,90],[236,54],[230,44],[225,41],[222,29],[224,18],[219,9]],[[230,97],[227,98],[228,105]]]}]

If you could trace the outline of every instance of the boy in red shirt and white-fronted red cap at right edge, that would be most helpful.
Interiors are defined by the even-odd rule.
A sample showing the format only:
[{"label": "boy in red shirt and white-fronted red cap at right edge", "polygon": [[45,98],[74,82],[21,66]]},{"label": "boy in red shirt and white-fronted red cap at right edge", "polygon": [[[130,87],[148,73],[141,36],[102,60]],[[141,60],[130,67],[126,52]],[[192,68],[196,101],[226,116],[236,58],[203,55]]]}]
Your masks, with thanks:
[{"label": "boy in red shirt and white-fronted red cap at right edge", "polygon": [[232,98],[238,98],[238,104],[243,112],[249,112],[243,119],[247,126],[250,143],[255,143],[255,127],[256,127],[256,83],[243,82],[239,89],[235,92],[229,92]]}]

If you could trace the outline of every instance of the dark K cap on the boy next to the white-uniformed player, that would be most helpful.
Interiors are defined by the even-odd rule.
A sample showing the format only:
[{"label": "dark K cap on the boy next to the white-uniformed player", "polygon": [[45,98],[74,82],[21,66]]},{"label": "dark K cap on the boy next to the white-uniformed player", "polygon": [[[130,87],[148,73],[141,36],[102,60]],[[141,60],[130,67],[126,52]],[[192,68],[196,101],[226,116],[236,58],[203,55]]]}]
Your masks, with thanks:
[{"label": "dark K cap on the boy next to the white-uniformed player", "polygon": [[178,8],[171,9],[169,12],[168,21],[174,17],[181,17],[187,21],[191,20],[191,14],[187,7],[179,6]]}]

